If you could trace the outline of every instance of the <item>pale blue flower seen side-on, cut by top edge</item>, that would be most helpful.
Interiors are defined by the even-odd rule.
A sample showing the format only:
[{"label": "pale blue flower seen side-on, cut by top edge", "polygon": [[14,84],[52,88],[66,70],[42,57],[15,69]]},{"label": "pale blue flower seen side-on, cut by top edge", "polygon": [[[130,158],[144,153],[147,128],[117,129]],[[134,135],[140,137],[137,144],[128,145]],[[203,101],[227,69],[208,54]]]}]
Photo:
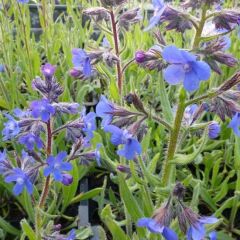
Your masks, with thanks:
[{"label": "pale blue flower seen side-on, cut by top edge", "polygon": [[154,14],[149,21],[149,25],[144,29],[144,31],[149,31],[154,28],[158,23],[160,23],[161,16],[166,8],[163,0],[152,0]]}]

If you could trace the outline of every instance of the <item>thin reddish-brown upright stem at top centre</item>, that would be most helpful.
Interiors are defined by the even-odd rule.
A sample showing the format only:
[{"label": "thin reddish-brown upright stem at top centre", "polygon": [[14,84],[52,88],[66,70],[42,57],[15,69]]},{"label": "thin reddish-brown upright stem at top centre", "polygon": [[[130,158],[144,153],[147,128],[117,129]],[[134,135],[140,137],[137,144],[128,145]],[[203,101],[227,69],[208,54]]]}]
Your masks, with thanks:
[{"label": "thin reddish-brown upright stem at top centre", "polygon": [[[115,54],[119,58],[119,56],[120,56],[119,36],[118,36],[118,31],[117,31],[117,22],[115,20],[113,10],[110,11],[110,17],[111,17],[111,23],[112,23]],[[118,84],[118,92],[120,95],[122,94],[122,82],[123,82],[123,75],[122,75],[121,62],[120,62],[120,58],[119,58],[119,61],[117,62],[117,84]]]}]

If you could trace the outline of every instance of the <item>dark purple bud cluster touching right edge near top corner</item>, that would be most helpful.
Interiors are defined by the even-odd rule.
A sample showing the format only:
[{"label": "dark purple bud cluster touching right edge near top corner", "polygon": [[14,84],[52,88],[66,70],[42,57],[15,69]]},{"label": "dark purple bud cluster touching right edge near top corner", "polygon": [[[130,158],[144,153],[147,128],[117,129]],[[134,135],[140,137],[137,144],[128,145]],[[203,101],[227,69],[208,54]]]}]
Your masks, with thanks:
[{"label": "dark purple bud cluster touching right edge near top corner", "polygon": [[213,18],[213,23],[217,29],[231,31],[236,25],[240,24],[240,12],[233,10],[219,12],[219,14]]}]

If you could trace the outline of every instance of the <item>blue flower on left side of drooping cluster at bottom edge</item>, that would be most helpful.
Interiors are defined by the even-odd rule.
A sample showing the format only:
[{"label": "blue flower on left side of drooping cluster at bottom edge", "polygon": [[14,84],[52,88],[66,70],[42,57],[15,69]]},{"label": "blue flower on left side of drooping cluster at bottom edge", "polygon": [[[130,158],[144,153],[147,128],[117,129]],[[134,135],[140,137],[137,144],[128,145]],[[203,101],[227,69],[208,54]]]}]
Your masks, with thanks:
[{"label": "blue flower on left side of drooping cluster at bottom edge", "polygon": [[146,227],[152,233],[160,233],[166,240],[178,240],[177,234],[170,228],[161,225],[153,218],[141,218],[137,222],[138,227]]}]

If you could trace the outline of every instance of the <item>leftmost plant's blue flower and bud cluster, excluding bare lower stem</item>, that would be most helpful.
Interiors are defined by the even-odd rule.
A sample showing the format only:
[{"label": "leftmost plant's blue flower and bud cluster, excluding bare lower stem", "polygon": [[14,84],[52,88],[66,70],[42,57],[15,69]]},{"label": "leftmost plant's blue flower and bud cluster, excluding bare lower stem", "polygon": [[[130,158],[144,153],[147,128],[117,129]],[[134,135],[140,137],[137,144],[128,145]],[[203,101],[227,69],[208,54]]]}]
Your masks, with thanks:
[{"label": "leftmost plant's blue flower and bud cluster, excluding bare lower stem", "polygon": [[[73,181],[72,176],[67,173],[72,170],[70,161],[73,159],[88,156],[88,159],[96,159],[100,165],[100,146],[91,154],[89,151],[84,152],[85,148],[90,147],[93,131],[96,130],[96,114],[86,113],[85,110],[81,113],[77,103],[59,102],[63,89],[55,79],[55,70],[56,67],[51,64],[43,65],[41,72],[44,79],[38,77],[32,82],[33,89],[41,94],[42,99],[32,101],[27,110],[15,109],[13,115],[5,113],[8,121],[4,123],[2,130],[3,140],[14,141],[17,138],[18,143],[28,151],[23,151],[20,157],[14,154],[17,166],[9,160],[6,150],[0,153],[0,173],[5,182],[15,182],[15,195],[19,195],[24,189],[33,194],[33,184],[41,168],[45,177],[52,175],[55,181],[68,186]],[[54,120],[61,114],[79,114],[79,117],[54,129]],[[53,136],[63,129],[71,134],[74,144],[69,156],[66,152],[59,152],[54,156],[51,153]],[[67,160],[64,161],[65,159]]]}]

